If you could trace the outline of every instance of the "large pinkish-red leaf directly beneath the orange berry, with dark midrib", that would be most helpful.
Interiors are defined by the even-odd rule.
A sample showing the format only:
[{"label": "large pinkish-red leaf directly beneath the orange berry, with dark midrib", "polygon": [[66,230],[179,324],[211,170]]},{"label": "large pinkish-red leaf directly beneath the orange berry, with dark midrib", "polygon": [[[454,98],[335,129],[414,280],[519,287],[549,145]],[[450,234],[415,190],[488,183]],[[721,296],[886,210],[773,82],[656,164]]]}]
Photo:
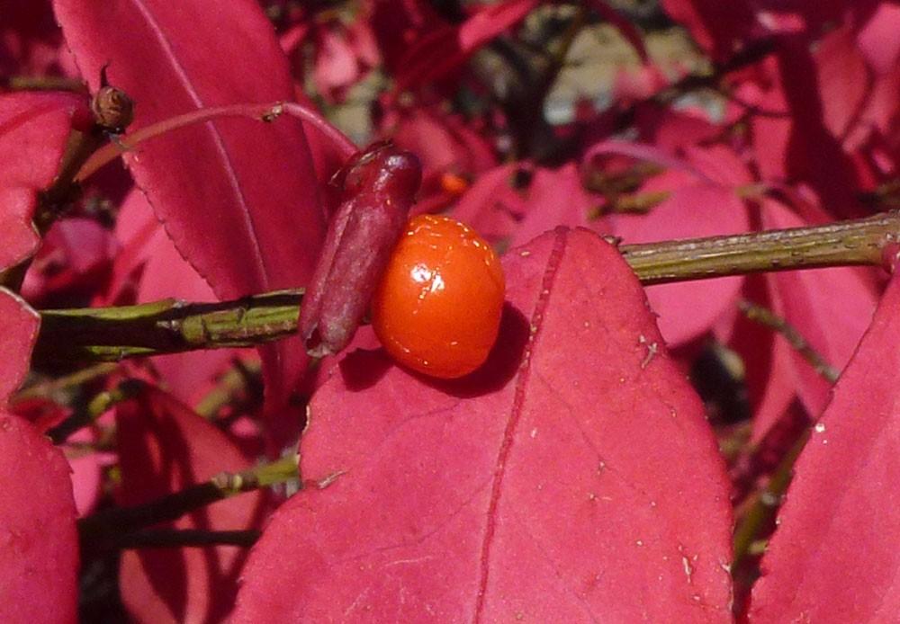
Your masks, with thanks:
[{"label": "large pinkish-red leaf directly beneath the orange berry, with dark midrib", "polygon": [[585,230],[504,265],[480,373],[356,352],[320,388],[318,486],[275,513],[234,621],[730,620],[723,468],[635,276]]}]

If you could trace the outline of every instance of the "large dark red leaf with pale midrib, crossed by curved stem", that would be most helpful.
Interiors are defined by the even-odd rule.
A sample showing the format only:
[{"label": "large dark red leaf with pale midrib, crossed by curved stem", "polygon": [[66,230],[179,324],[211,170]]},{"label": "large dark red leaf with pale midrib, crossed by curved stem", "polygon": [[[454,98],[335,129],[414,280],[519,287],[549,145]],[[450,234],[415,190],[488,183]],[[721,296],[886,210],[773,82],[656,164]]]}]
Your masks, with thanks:
[{"label": "large dark red leaf with pale midrib, crossed by curved stem", "polygon": [[[92,90],[108,65],[136,101],[131,129],[203,106],[293,100],[275,32],[253,0],[56,0]],[[175,246],[220,299],[292,288],[311,276],[324,232],[310,150],[298,120],[221,120],[126,155]],[[284,401],[305,355],[263,350],[267,394]]]}]

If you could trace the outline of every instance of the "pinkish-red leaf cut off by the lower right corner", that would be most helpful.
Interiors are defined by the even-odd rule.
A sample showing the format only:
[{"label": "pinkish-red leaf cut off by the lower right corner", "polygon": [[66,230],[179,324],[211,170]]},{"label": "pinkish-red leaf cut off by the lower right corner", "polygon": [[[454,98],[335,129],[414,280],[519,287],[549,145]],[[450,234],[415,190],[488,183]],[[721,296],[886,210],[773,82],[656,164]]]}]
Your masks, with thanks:
[{"label": "pinkish-red leaf cut off by the lower right corner", "polygon": [[895,277],[797,461],[752,621],[887,622],[900,613],[898,308]]}]

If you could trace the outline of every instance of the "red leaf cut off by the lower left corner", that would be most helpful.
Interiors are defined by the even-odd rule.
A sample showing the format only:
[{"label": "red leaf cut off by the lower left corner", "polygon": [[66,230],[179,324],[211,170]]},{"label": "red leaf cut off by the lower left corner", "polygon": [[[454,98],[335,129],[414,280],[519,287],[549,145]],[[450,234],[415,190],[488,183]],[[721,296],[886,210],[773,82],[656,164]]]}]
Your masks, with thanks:
[{"label": "red leaf cut off by the lower left corner", "polygon": [[0,412],[0,621],[75,622],[78,539],[66,459]]}]

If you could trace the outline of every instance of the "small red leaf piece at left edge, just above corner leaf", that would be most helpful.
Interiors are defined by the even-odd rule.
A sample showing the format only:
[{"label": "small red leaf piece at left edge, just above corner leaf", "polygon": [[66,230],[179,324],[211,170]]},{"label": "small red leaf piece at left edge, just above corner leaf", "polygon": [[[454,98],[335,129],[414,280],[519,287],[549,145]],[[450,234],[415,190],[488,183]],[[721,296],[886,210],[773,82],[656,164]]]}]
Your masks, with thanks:
[{"label": "small red leaf piece at left edge, just above corner leaf", "polygon": [[31,347],[38,337],[40,316],[9,290],[0,288],[0,408],[22,384],[31,364]]}]

